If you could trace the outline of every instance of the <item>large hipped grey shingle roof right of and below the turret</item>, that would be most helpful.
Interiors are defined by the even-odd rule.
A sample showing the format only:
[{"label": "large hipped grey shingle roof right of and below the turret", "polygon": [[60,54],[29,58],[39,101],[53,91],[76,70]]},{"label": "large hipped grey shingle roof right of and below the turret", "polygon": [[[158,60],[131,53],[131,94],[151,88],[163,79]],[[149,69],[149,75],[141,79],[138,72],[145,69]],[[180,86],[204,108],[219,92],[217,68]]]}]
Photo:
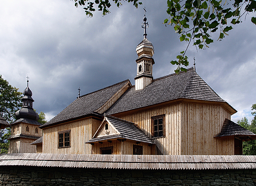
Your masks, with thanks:
[{"label": "large hipped grey shingle roof right of and below the turret", "polygon": [[110,115],[133,110],[178,98],[225,103],[225,101],[193,70],[193,68],[190,68],[187,72],[170,74],[155,79],[142,90],[136,91],[133,86],[106,111],[106,114]]}]

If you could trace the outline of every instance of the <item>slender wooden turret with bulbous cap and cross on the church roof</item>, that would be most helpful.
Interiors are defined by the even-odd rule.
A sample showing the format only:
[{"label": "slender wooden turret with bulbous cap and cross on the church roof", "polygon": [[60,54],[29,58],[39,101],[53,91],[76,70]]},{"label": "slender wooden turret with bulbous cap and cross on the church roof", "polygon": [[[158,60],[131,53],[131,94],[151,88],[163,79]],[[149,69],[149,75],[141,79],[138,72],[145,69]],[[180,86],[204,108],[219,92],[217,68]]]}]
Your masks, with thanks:
[{"label": "slender wooden turret with bulbous cap and cross on the church roof", "polygon": [[137,75],[134,78],[135,90],[144,89],[147,85],[149,85],[152,82],[152,70],[153,64],[155,64],[153,59],[154,47],[152,43],[147,39],[148,23],[146,22],[147,18],[145,14],[143,21],[144,23],[142,23],[141,27],[144,29],[144,39],[136,47],[136,53],[138,55],[138,58],[136,60]]}]

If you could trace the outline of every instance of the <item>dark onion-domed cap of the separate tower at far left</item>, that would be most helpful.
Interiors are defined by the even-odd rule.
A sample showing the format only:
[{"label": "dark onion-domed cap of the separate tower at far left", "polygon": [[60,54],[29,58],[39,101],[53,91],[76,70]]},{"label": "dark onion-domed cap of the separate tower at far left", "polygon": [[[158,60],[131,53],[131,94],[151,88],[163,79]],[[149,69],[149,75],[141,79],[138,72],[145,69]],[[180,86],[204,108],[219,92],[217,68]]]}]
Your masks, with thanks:
[{"label": "dark onion-domed cap of the separate tower at far left", "polygon": [[23,98],[21,99],[23,102],[23,106],[20,110],[18,110],[15,113],[15,116],[18,119],[30,119],[30,120],[34,120],[37,121],[39,119],[38,114],[33,110],[33,98],[32,96],[32,91],[29,88],[29,83],[28,83],[28,87],[23,91]]}]

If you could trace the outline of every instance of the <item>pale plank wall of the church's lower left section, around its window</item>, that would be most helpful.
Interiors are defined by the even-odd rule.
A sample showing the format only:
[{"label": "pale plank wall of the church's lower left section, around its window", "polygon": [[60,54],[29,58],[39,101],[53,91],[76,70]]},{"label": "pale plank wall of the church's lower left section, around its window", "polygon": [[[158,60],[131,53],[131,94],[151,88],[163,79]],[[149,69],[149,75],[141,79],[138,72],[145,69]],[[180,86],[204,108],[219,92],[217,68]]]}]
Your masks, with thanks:
[{"label": "pale plank wall of the church's lower left section, around its window", "polygon": [[[54,154],[91,154],[90,144],[85,142],[92,139],[101,121],[86,118],[74,122],[61,124],[43,130],[43,153]],[[58,132],[70,129],[70,147],[58,148]]]}]

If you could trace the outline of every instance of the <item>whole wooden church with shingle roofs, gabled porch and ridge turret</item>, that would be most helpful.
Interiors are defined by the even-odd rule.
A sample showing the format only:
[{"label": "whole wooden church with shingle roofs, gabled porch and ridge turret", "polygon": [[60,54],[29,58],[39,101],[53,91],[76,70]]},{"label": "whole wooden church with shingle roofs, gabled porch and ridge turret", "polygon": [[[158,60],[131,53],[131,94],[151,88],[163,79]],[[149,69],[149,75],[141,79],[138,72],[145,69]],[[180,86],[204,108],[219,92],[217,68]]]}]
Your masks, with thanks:
[{"label": "whole wooden church with shingle roofs, gabled porch and ridge turret", "polygon": [[154,47],[143,21],[135,85],[125,80],[78,97],[39,126],[37,153],[241,155],[242,141],[256,139],[230,121],[237,111],[193,68],[153,79]]}]

